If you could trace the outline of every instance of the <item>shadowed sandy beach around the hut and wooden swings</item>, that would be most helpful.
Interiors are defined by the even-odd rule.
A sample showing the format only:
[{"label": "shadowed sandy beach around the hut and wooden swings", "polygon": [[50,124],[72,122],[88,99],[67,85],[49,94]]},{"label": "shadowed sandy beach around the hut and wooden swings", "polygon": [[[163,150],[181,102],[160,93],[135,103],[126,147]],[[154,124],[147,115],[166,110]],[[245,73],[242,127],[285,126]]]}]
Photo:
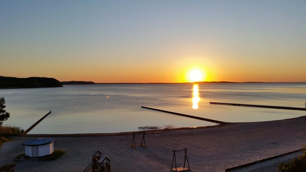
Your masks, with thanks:
[{"label": "shadowed sandy beach around the hut and wooden swings", "polygon": [[[172,149],[187,147],[192,171],[224,171],[226,168],[283,154],[301,148],[306,143],[306,116],[294,119],[231,123],[230,125],[177,130],[146,134],[147,148],[138,146],[142,136],[136,136],[137,148],[130,148],[132,135],[121,136],[54,136],[54,149],[63,149],[63,157],[50,162],[20,161],[16,172],[80,171],[91,162],[91,156],[100,150],[111,160],[112,171],[156,172],[170,171]],[[44,137],[41,135],[40,137]],[[0,148],[0,165],[10,163],[24,152],[21,143],[37,138],[15,137]],[[183,152],[177,153],[177,164],[184,162]]]}]

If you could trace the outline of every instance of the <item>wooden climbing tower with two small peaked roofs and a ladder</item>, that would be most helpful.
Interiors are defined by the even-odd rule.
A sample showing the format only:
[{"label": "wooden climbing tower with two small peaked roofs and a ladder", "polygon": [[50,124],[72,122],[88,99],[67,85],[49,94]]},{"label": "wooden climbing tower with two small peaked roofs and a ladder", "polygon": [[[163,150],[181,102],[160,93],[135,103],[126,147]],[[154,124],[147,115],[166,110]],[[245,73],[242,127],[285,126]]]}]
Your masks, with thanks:
[{"label": "wooden climbing tower with two small peaked roofs and a ladder", "polygon": [[92,155],[91,163],[83,172],[110,172],[110,159],[105,157],[100,161],[102,153],[98,150],[94,155]]}]

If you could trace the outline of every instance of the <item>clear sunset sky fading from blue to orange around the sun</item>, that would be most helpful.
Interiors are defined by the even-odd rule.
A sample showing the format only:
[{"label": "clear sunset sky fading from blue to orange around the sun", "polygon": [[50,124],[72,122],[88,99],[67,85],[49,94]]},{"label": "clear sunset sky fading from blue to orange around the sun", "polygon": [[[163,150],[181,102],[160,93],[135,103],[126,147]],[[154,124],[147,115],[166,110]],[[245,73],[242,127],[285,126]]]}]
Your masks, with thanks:
[{"label": "clear sunset sky fading from blue to orange around the sun", "polygon": [[306,82],[306,1],[0,0],[0,75]]}]

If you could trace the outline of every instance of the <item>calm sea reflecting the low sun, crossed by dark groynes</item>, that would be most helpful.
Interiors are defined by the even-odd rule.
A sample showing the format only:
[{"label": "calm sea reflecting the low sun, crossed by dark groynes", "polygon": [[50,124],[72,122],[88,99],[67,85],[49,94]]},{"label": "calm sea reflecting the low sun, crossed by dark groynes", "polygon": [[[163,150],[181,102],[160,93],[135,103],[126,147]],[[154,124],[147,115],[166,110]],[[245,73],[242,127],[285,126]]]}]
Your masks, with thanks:
[{"label": "calm sea reflecting the low sun, crossed by dark groynes", "polygon": [[213,105],[209,102],[305,107],[306,83],[94,84],[58,88],[1,89],[10,118],[4,125],[28,134],[119,133],[200,127],[217,123],[141,106],[223,122],[296,118],[306,111]]}]

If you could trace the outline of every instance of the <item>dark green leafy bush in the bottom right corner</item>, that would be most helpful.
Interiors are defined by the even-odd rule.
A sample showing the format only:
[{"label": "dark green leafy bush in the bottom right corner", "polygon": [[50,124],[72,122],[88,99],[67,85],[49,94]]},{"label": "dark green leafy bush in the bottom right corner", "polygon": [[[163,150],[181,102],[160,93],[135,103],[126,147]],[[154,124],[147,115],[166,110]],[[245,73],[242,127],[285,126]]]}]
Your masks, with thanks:
[{"label": "dark green leafy bush in the bottom right corner", "polygon": [[278,165],[278,172],[306,172],[306,145],[303,146],[301,152],[303,154],[298,155],[292,161],[280,163]]}]

